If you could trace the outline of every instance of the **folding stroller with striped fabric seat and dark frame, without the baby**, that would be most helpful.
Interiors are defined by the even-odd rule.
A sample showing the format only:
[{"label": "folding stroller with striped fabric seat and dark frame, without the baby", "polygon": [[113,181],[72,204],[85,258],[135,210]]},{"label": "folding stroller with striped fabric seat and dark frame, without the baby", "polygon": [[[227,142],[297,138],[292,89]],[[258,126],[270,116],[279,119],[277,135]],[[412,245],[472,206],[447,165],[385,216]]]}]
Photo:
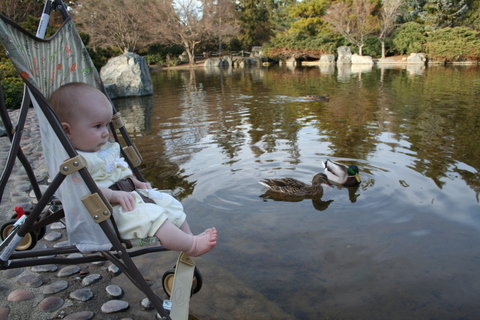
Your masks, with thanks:
[{"label": "folding stroller with striped fabric seat and dark frame, without the baby", "polygon": [[[52,8],[60,12],[63,24],[52,37],[43,39]],[[171,300],[171,311],[168,312],[164,308],[164,301],[152,291],[132,260],[139,255],[164,252],[167,249],[158,243],[136,248],[135,241],[121,239],[110,204],[96,186],[84,160],[71,145],[50,108],[47,97],[65,83],[85,82],[106,93],[65,4],[61,0],[46,1],[36,36],[0,15],[0,42],[25,83],[15,127],[0,90],[0,116],[11,141],[0,180],[0,201],[16,159],[23,165],[37,199],[31,212],[25,214],[20,209],[1,226],[0,269],[109,260],[146,295],[156,309],[157,317],[187,319],[190,296],[202,286],[201,274],[194,261],[181,253],[176,266],[163,275],[162,285]],[[44,157],[51,178],[51,183],[43,192],[20,146],[31,104],[40,124]],[[143,180],[138,170],[142,158],[113,103],[112,108],[114,117],[110,123],[111,134],[117,142],[122,138],[125,144],[122,155],[135,176]],[[30,250],[45,235],[46,227],[59,221],[66,222],[70,246]],[[139,240],[137,244],[138,242],[150,243],[151,239]],[[78,252],[83,256],[65,256]],[[185,292],[190,292],[190,295],[185,295]]]}]

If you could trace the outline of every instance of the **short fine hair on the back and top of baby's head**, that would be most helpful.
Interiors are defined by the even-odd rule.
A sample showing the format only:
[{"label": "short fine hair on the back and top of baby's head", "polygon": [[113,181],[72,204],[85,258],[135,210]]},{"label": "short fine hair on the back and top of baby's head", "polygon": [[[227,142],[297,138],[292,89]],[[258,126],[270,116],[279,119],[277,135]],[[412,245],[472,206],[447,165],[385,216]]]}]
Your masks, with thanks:
[{"label": "short fine hair on the back and top of baby's head", "polygon": [[98,91],[94,86],[83,82],[70,82],[55,90],[50,97],[50,104],[58,119],[62,122],[71,120],[75,116],[74,106],[79,104],[89,90]]}]

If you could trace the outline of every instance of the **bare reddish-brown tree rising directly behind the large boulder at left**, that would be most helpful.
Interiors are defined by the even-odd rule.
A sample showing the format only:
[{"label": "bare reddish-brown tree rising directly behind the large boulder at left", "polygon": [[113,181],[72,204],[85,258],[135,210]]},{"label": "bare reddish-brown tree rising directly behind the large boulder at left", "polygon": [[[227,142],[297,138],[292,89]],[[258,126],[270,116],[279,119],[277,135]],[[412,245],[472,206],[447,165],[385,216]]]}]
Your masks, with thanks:
[{"label": "bare reddish-brown tree rising directly behind the large boulder at left", "polygon": [[144,22],[148,0],[78,0],[73,15],[93,47],[114,45],[123,52],[145,46],[152,37]]}]

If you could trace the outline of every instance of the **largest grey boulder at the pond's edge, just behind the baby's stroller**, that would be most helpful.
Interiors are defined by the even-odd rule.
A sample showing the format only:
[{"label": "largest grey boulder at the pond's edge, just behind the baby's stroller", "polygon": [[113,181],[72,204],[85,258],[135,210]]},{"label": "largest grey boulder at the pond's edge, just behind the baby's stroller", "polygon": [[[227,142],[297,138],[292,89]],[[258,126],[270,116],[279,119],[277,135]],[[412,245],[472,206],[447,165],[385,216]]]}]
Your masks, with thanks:
[{"label": "largest grey boulder at the pond's edge, just behind the baby's stroller", "polygon": [[112,99],[153,93],[147,62],[132,52],[108,60],[100,70],[100,77]]}]

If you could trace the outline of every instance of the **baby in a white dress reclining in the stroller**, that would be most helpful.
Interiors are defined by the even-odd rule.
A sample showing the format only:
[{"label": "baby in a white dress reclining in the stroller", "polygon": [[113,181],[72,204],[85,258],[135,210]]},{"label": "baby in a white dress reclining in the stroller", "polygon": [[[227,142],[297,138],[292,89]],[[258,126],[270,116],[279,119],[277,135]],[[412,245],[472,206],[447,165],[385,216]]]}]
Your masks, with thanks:
[{"label": "baby in a white dress reclining in the stroller", "polygon": [[50,102],[70,142],[113,205],[123,239],[156,236],[165,248],[194,257],[217,244],[215,228],[194,236],[179,201],[132,175],[120,157],[120,145],[109,142],[112,106],[101,91],[85,83],[69,83],[57,89]]}]

